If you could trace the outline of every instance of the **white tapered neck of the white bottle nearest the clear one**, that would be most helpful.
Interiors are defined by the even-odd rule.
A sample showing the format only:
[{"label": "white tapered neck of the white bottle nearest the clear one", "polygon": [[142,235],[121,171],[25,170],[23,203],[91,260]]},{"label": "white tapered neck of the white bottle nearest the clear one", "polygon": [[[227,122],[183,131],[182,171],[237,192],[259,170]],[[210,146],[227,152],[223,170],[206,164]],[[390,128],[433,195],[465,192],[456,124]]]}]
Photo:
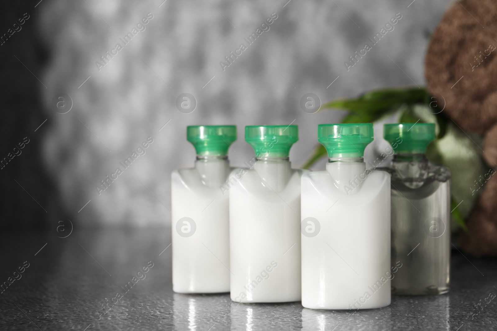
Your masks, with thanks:
[{"label": "white tapered neck of the white bottle nearest the clear one", "polygon": [[335,187],[346,195],[359,192],[368,174],[364,157],[330,157],[326,170]]}]

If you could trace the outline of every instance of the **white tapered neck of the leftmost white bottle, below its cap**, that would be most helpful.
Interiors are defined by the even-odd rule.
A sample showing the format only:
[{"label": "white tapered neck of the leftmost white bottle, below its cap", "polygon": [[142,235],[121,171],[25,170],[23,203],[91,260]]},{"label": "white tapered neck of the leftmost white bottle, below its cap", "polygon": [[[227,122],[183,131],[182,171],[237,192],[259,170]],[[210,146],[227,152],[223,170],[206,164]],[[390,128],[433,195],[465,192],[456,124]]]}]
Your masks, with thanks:
[{"label": "white tapered neck of the leftmost white bottle, below its cap", "polygon": [[195,169],[197,169],[204,185],[219,187],[219,185],[222,185],[226,181],[230,173],[228,155],[197,155]]}]

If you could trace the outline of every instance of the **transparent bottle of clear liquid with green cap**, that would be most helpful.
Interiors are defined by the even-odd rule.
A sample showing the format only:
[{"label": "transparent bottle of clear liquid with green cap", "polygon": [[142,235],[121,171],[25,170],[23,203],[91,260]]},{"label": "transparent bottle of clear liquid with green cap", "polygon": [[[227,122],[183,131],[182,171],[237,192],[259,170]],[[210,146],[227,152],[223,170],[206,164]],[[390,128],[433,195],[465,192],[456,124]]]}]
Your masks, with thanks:
[{"label": "transparent bottle of clear liquid with green cap", "polygon": [[449,290],[450,172],[428,163],[433,123],[385,124],[394,148],[392,175],[392,294],[436,295]]}]

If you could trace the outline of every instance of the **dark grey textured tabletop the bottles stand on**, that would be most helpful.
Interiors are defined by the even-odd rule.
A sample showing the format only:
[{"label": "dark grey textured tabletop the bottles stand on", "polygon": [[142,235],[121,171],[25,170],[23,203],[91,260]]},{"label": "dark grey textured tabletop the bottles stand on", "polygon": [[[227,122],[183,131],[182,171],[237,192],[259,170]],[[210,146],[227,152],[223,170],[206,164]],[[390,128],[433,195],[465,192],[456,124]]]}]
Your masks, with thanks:
[{"label": "dark grey textured tabletop the bottles stand on", "polygon": [[[75,229],[58,238],[67,227],[1,235],[0,282],[12,283],[0,294],[0,330],[497,330],[492,259],[454,251],[445,295],[393,297],[390,307],[375,310],[315,311],[173,293],[168,229]],[[153,267],[138,274],[150,261]],[[14,274],[19,267],[24,272]],[[133,277],[136,284],[124,289]],[[117,301],[107,313],[106,298]]]}]

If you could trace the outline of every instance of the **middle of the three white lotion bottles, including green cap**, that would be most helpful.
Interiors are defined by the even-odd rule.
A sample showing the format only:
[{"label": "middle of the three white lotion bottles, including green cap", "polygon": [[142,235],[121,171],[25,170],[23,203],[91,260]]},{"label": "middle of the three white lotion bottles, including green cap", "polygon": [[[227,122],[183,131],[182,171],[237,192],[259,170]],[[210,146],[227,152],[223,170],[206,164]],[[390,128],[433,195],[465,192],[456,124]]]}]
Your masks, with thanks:
[{"label": "middle of the three white lotion bottles, including green cap", "polygon": [[299,301],[303,170],[288,158],[298,127],[248,126],[245,140],[255,158],[230,175],[231,299]]}]

